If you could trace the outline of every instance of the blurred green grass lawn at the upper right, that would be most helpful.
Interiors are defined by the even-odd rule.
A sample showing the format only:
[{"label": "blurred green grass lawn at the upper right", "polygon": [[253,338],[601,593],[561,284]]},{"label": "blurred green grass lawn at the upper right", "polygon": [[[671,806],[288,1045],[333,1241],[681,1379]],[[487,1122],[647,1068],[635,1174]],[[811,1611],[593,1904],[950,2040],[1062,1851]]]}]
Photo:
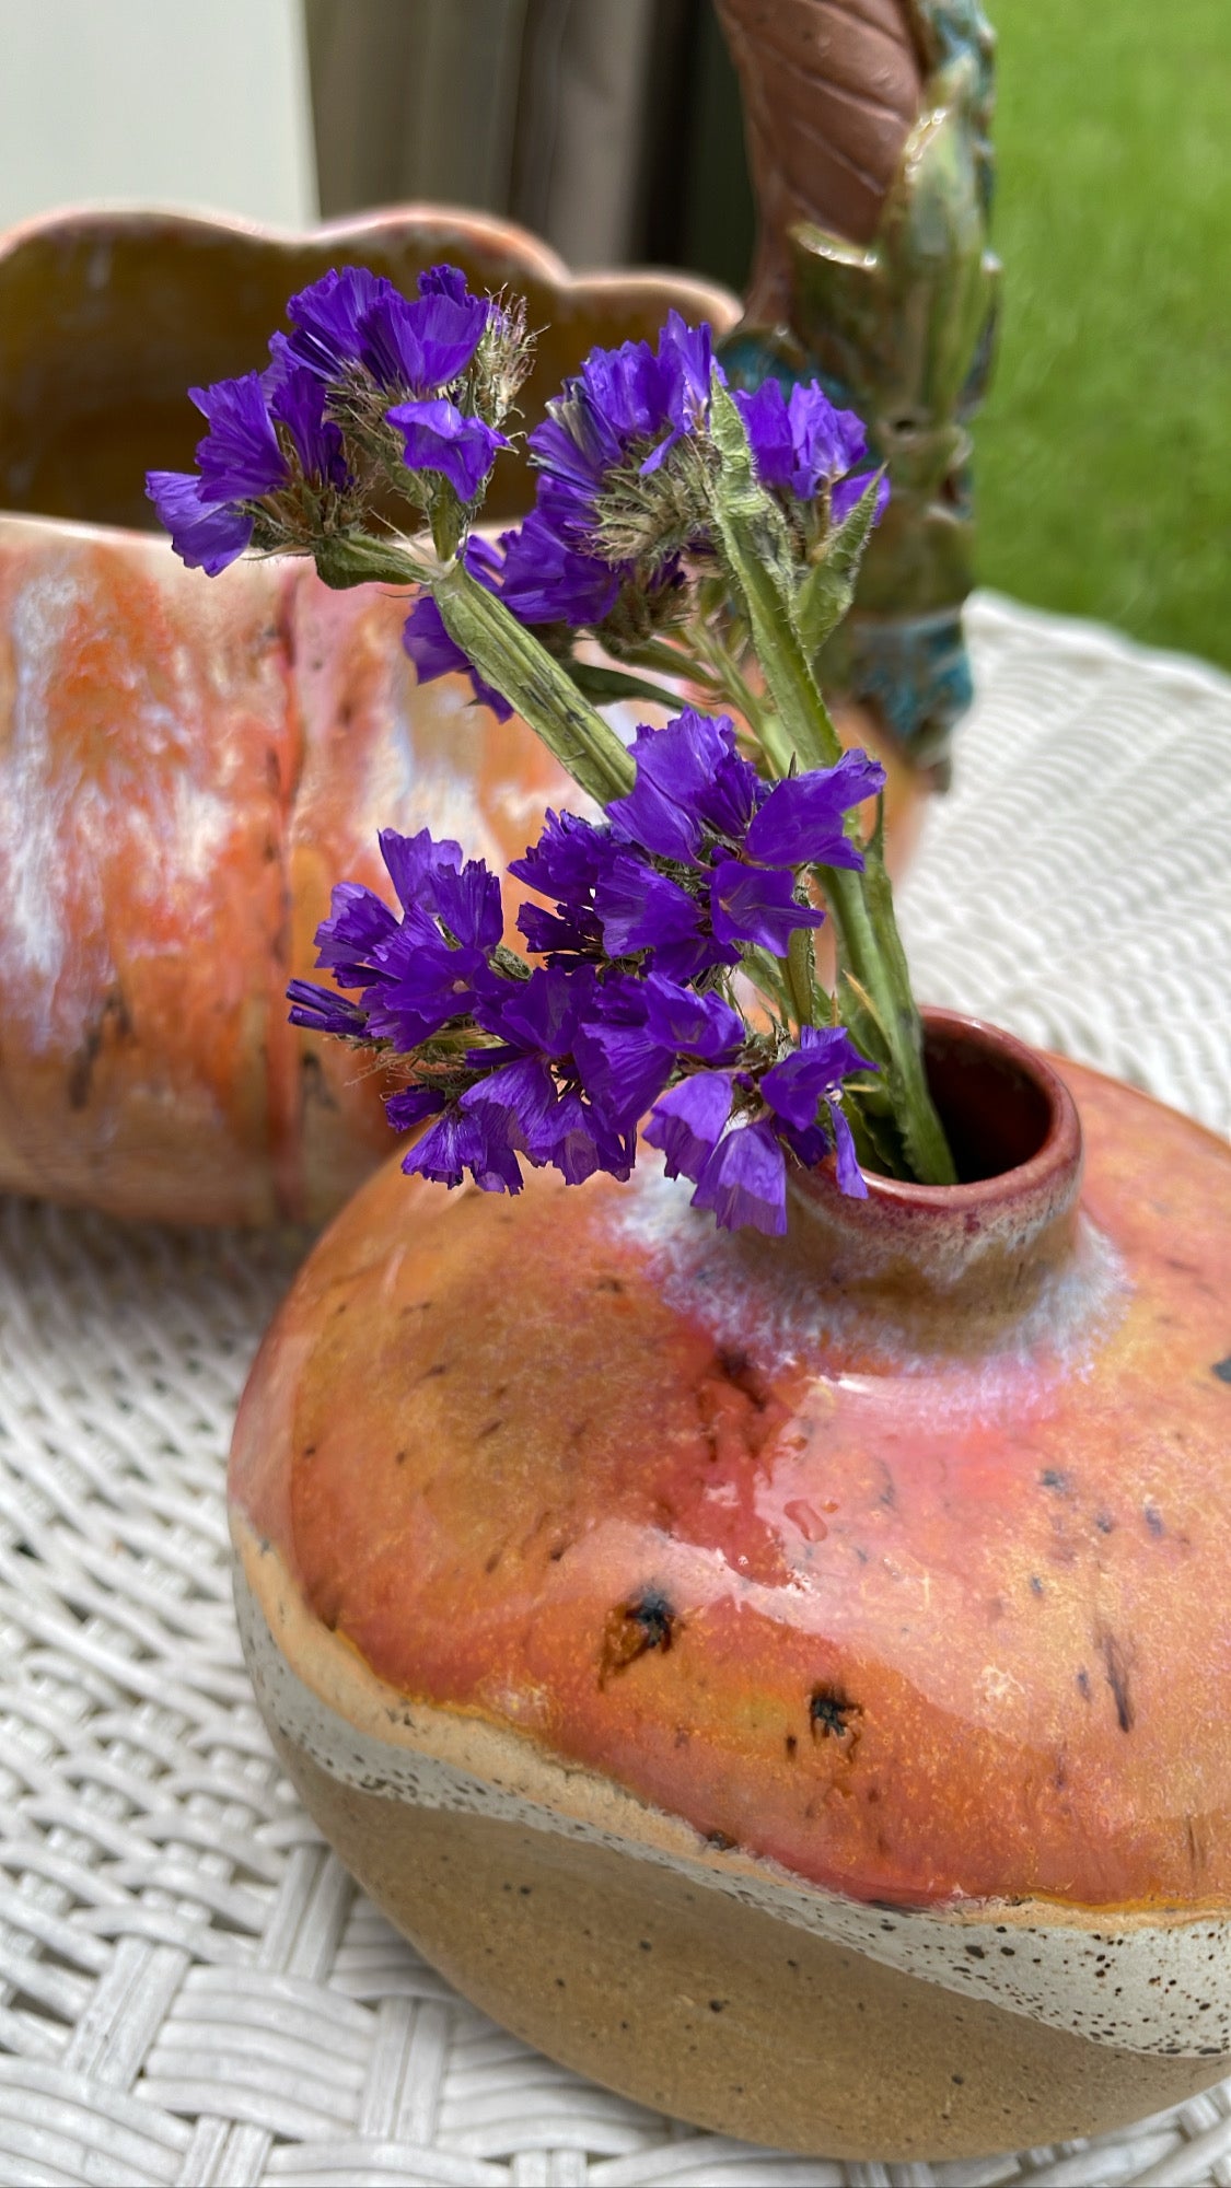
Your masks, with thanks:
[{"label": "blurred green grass lawn at the upper right", "polygon": [[1231,665],[1227,0],[990,0],[979,580]]}]

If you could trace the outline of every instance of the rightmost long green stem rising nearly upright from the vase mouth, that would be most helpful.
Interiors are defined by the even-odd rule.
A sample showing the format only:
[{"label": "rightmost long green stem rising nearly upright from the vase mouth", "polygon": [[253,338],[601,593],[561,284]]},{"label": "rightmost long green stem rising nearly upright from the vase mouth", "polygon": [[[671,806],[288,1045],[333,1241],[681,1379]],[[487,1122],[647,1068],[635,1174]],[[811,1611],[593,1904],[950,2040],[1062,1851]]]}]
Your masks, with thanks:
[{"label": "rightmost long green stem rising nearly upright from the vase mouth", "polygon": [[[710,510],[732,591],[747,608],[760,672],[799,766],[832,768],[843,748],[795,621],[786,523],[753,473],[743,418],[718,379],[712,424],[721,464],[710,484]],[[817,877],[835,923],[843,1015],[852,1037],[885,1066],[907,1162],[924,1186],[955,1184],[953,1155],[927,1085],[922,1024],[881,851],[867,849],[863,873],[819,866]],[[852,976],[854,991],[841,974]]]}]

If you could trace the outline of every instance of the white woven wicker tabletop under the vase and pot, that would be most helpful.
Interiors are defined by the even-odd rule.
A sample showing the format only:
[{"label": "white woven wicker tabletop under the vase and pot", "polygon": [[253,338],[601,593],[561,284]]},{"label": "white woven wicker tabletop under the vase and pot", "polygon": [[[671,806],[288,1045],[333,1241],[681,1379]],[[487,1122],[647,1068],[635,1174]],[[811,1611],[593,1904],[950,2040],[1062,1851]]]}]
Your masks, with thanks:
[{"label": "white woven wicker tabletop under the vase and pot", "polygon": [[[1224,1129],[1231,683],[970,624],[920,991]],[[280,1779],[230,1608],[230,1422],[300,1247],[0,1203],[0,2181],[1231,2184],[1231,2085],[979,2164],[749,2151],[534,2057],[388,1930]]]}]

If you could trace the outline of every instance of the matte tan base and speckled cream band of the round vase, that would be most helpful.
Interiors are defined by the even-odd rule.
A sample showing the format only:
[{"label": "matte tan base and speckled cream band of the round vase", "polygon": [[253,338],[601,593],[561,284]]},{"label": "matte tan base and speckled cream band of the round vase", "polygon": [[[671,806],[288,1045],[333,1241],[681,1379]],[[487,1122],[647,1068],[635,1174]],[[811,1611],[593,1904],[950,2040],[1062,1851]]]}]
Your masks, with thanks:
[{"label": "matte tan base and speckled cream band of the round vase", "polygon": [[[1097,2133],[1227,2072],[1227,2057],[1143,2055],[1049,2026],[1021,2009],[1016,1982],[1016,1960],[1038,1950],[1049,2015],[1080,2022],[1097,2013],[1108,1963],[1121,2002],[1141,1985],[1154,2000],[1150,1971],[1163,1971],[1183,1998],[1174,2035],[1213,1976],[1222,2024],[1231,1969],[1216,1921],[1121,1917],[1095,1936],[1097,1917],[1075,1923],[1038,1901],[948,1917],[843,1906],[517,1735],[405,1704],[307,1615],[276,1551],[234,1527],[248,1663],[307,1807],[399,1930],[565,2065],[721,2133],[883,2160]],[[944,1965],[944,1980],[821,1928],[867,1932],[916,1969]],[[1014,1982],[1016,2002],[999,2004]]]}]

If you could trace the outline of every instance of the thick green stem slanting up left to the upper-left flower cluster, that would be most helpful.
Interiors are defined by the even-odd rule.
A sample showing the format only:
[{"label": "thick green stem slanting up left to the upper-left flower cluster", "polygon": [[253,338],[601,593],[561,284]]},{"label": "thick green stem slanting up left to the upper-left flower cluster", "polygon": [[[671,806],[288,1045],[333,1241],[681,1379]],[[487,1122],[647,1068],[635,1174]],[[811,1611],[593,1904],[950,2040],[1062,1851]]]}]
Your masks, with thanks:
[{"label": "thick green stem slanting up left to the upper-left flower cluster", "polygon": [[322,543],[315,567],[337,589],[372,580],[425,586],[436,597],[445,630],[484,683],[517,707],[580,790],[607,805],[633,788],[637,768],[616,731],[464,562],[423,562],[394,540],[350,534]]}]

